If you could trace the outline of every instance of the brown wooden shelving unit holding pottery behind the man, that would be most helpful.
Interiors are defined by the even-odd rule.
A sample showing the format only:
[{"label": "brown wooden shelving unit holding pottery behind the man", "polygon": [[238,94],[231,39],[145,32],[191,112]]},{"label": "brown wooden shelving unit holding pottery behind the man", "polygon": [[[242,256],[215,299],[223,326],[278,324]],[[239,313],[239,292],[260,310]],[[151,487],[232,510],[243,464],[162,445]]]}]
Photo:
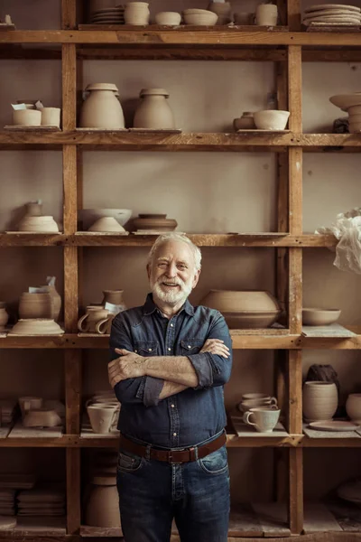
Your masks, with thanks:
[{"label": "brown wooden shelving unit holding pottery behind the man", "polygon": [[[301,364],[303,349],[361,350],[361,330],[356,335],[339,339],[305,337],[301,333],[302,249],[332,248],[332,236],[313,235],[302,230],[302,154],[358,153],[361,135],[303,134],[301,123],[301,62],[361,61],[361,33],[302,33],[300,0],[280,0],[284,24],[282,32],[264,29],[245,31],[240,28],[130,27],[98,30],[88,25],[77,26],[76,0],[61,0],[60,31],[12,31],[0,33],[0,59],[58,59],[62,70],[63,123],[60,132],[4,131],[0,133],[0,150],[59,150],[63,158],[63,232],[60,235],[0,234],[0,248],[53,247],[63,250],[64,260],[64,325],[59,337],[0,338],[0,349],[62,349],[65,367],[66,426],[63,435],[53,437],[0,438],[1,447],[65,448],[67,465],[67,535],[80,537],[117,537],[119,531],[81,526],[80,451],[82,448],[116,448],[114,435],[82,435],[81,365],[82,350],[106,349],[108,337],[84,337],[77,332],[79,306],[79,254],[82,247],[149,247],[153,237],[87,236],[77,232],[77,209],[81,208],[82,151],[155,151],[155,152],[273,152],[278,158],[278,231],[268,233],[190,234],[200,247],[268,247],[276,250],[277,296],[287,308],[287,329],[246,334],[232,332],[235,349],[277,350],[279,360],[277,395],[282,399],[286,433],[282,436],[237,437],[229,434],[229,448],[284,448],[288,458],[287,498],[284,519],[260,519],[261,508],[238,511],[232,516],[230,540],[236,537],[285,537],[318,531],[314,527],[317,507],[303,514],[302,452],[308,447],[360,447],[361,436],[339,439],[333,435],[310,438],[303,434],[301,416]],[[23,48],[31,44],[32,48]],[[39,48],[49,45],[51,48]],[[79,131],[77,125],[77,89],[80,89],[81,61],[90,59],[148,60],[217,60],[273,61],[277,80],[278,107],[289,109],[290,132],[284,134],[211,134],[181,133],[173,135],[134,134],[130,132]],[[287,513],[286,513],[287,511]],[[283,512],[282,512],[283,513]],[[322,514],[324,514],[324,510]],[[248,515],[247,515],[248,514]],[[319,514],[321,512],[319,511]],[[277,516],[277,514],[276,514]],[[248,518],[248,519],[247,519]],[[310,519],[311,518],[311,519]],[[244,521],[244,527],[240,527]],[[247,524],[248,521],[248,524]],[[268,523],[267,523],[268,521]],[[277,523],[278,521],[278,523]],[[334,530],[329,519],[329,531]],[[248,525],[248,530],[247,526]],[[338,521],[338,537],[347,529]],[[332,527],[333,526],[333,527]],[[341,529],[341,530],[340,530]],[[356,529],[357,530],[357,529]],[[56,537],[64,532],[51,529],[32,532],[20,529],[8,537]],[[332,540],[329,538],[322,538]],[[3,534],[0,535],[0,538]],[[311,539],[311,538],[310,538]]]}]

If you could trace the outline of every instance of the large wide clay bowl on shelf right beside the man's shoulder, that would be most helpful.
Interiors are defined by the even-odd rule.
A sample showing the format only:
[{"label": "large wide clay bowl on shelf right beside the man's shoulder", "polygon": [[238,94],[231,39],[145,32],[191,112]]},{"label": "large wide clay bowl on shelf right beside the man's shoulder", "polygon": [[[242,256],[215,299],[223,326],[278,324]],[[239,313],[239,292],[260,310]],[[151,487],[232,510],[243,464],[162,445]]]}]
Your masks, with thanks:
[{"label": "large wide clay bowl on shelf right beside the man's shoulder", "polygon": [[257,290],[210,290],[200,304],[220,313],[279,313],[280,306],[269,292]]}]

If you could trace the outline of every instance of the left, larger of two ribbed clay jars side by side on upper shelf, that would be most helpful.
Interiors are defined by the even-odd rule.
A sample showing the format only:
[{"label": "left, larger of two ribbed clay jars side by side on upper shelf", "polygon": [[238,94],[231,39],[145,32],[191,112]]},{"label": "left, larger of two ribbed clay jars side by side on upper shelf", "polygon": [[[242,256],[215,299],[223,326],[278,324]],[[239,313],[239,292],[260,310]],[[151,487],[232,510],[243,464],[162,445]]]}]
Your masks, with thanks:
[{"label": "left, larger of two ribbed clay jars side by side on upper shelf", "polygon": [[116,98],[118,89],[111,83],[88,85],[88,98],[81,107],[80,126],[118,130],[125,127],[123,109]]}]

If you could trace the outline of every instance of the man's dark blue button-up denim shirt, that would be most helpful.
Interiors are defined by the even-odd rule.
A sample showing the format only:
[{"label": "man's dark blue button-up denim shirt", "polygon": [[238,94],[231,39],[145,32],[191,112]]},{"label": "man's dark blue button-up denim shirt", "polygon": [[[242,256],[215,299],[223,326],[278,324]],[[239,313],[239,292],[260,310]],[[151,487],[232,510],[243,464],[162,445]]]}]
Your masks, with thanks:
[{"label": "man's dark blue button-up denim shirt", "polygon": [[[207,339],[221,339],[229,358],[199,353]],[[160,400],[163,380],[128,378],[115,386],[122,404],[118,429],[123,435],[166,448],[199,444],[218,435],[226,425],[223,385],[232,366],[232,342],[221,313],[187,300],[170,320],[162,316],[148,294],[143,306],[116,315],[110,333],[112,360],[116,348],[141,356],[187,356],[199,378],[197,388]]]}]

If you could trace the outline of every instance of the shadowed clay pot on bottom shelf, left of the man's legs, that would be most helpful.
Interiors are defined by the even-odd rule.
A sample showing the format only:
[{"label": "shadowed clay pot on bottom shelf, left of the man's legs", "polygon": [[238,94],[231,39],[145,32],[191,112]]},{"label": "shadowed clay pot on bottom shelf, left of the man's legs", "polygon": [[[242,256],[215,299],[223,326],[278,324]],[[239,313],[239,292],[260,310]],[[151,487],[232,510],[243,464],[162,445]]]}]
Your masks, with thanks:
[{"label": "shadowed clay pot on bottom shelf, left of the man's legs", "polygon": [[[116,479],[112,485],[92,485],[85,513],[86,525],[92,527],[120,527],[119,497]],[[99,481],[99,480],[97,480]]]}]

